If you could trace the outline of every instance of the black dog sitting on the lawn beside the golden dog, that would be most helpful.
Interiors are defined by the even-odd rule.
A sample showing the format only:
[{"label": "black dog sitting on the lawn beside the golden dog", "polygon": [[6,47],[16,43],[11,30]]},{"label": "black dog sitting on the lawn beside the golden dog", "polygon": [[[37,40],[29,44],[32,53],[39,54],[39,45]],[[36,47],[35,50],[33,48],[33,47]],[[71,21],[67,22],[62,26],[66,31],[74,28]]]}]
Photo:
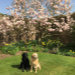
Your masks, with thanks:
[{"label": "black dog sitting on the lawn beside the golden dog", "polygon": [[21,64],[20,64],[19,68],[22,69],[23,72],[24,72],[24,69],[26,71],[30,70],[30,61],[28,59],[27,53],[22,54],[22,61],[21,61]]}]

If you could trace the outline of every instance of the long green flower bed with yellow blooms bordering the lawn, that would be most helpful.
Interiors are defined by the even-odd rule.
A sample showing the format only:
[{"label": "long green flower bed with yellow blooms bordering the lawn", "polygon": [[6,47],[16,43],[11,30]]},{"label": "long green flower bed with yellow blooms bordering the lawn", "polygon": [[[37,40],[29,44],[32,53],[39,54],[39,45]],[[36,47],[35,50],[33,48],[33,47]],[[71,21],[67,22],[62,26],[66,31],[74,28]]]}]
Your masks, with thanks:
[{"label": "long green flower bed with yellow blooms bordering the lawn", "polygon": [[[75,56],[75,51],[70,50],[59,40],[42,40],[42,41],[28,41],[28,42],[15,42],[15,43],[6,43],[5,46],[0,47],[0,50],[3,53],[16,54],[18,51],[29,51],[29,52],[49,52],[52,54],[60,54],[67,56]],[[69,51],[70,50],[70,51]]]}]

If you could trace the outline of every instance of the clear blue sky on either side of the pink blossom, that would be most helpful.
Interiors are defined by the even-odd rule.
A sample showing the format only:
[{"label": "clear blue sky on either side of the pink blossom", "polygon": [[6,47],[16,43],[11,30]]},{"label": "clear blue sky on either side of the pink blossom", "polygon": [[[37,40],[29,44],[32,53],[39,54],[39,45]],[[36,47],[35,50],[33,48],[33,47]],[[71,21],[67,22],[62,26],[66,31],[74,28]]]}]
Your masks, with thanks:
[{"label": "clear blue sky on either side of the pink blossom", "polygon": [[[6,7],[10,6],[12,0],[0,0],[0,13],[7,14],[8,10]],[[71,0],[72,9],[71,12],[75,12],[75,0]]]}]

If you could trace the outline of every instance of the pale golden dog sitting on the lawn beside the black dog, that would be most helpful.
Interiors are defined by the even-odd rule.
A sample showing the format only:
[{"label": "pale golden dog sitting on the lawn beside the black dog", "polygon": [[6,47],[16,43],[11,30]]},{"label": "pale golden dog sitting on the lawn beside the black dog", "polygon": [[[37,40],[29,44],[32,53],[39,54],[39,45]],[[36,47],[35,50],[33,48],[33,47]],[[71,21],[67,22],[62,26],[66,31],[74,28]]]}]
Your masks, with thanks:
[{"label": "pale golden dog sitting on the lawn beside the black dog", "polygon": [[30,70],[30,72],[32,72],[32,70],[34,69],[35,73],[37,73],[38,68],[41,70],[41,66],[40,66],[39,59],[38,59],[38,54],[33,53],[31,56],[31,70]]}]

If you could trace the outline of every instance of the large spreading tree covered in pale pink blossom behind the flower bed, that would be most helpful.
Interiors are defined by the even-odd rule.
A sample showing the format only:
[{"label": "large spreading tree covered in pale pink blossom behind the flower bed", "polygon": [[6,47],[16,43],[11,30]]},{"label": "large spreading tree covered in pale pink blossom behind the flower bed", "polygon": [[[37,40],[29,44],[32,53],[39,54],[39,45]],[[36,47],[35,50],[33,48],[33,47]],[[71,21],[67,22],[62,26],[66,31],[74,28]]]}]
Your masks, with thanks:
[{"label": "large spreading tree covered in pale pink blossom behind the flower bed", "polygon": [[[11,7],[6,9],[11,12],[12,18],[5,16],[0,21],[0,33],[4,36],[7,36],[6,32],[16,30],[20,36],[34,40],[36,33],[40,34],[40,38],[49,32],[63,33],[71,30],[74,23],[69,12],[70,0],[13,0]],[[62,14],[66,15],[66,19],[61,17],[60,22],[55,16]]]}]

